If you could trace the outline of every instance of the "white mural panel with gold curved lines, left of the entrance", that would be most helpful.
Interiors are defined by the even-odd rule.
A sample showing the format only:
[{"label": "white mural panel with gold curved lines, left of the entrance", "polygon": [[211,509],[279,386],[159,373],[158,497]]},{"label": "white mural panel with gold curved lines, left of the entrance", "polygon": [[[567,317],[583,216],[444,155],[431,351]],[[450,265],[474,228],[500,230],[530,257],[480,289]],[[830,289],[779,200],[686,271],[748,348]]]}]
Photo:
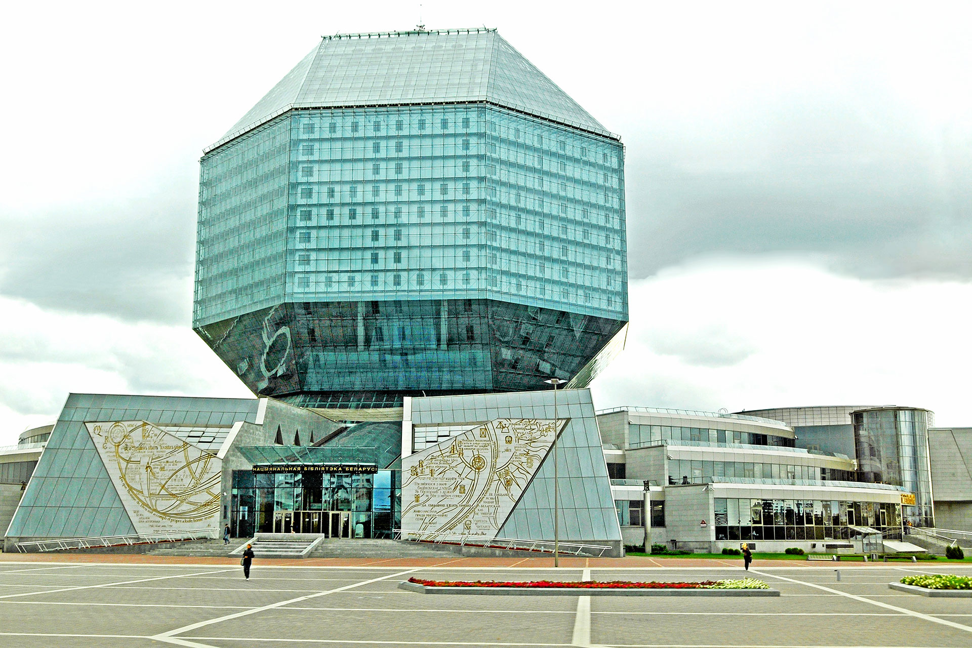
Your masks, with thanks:
[{"label": "white mural panel with gold curved lines, left of the entrance", "polygon": [[144,421],[85,425],[137,532],[219,526],[215,455]]}]

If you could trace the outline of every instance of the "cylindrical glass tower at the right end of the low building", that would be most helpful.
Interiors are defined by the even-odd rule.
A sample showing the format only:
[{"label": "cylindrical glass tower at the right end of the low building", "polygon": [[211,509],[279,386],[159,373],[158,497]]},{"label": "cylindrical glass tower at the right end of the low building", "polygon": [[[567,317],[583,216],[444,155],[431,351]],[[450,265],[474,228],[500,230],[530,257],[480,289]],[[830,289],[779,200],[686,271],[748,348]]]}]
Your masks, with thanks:
[{"label": "cylindrical glass tower at the right end of the low building", "polygon": [[860,481],[891,484],[914,493],[916,505],[905,506],[904,516],[916,527],[935,526],[928,415],[926,410],[899,408],[851,414]]}]

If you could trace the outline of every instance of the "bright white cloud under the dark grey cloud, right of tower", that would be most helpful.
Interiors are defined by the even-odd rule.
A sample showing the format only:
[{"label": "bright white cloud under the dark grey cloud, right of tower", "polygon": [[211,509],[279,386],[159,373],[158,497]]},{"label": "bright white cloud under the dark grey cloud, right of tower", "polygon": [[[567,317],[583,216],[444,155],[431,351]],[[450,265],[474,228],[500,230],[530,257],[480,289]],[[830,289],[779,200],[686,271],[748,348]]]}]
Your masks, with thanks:
[{"label": "bright white cloud under the dark grey cloud, right of tower", "polygon": [[632,282],[599,408],[899,404],[972,425],[972,284],[878,282],[801,261],[717,259]]}]

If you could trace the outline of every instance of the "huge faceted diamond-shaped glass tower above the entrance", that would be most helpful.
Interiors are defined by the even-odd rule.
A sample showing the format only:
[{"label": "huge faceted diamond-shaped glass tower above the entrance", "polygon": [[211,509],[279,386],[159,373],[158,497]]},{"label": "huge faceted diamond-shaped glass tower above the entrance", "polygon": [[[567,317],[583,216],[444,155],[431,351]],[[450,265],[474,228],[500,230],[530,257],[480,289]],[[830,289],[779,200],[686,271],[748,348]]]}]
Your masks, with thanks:
[{"label": "huge faceted diamond-shaped glass tower above the entrance", "polygon": [[325,37],[204,153],[195,272],[262,395],[583,387],[628,321],[623,147],[494,29]]}]

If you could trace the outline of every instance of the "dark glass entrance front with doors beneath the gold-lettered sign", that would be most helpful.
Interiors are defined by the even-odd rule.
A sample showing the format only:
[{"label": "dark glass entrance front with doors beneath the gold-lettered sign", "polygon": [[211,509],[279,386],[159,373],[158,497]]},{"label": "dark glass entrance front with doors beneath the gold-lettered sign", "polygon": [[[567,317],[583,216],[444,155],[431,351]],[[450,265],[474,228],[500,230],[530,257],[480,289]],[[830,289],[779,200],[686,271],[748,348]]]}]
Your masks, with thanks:
[{"label": "dark glass entrance front with doors beneath the gold-lettered sign", "polygon": [[230,533],[390,538],[399,528],[400,471],[374,474],[234,470]]}]

